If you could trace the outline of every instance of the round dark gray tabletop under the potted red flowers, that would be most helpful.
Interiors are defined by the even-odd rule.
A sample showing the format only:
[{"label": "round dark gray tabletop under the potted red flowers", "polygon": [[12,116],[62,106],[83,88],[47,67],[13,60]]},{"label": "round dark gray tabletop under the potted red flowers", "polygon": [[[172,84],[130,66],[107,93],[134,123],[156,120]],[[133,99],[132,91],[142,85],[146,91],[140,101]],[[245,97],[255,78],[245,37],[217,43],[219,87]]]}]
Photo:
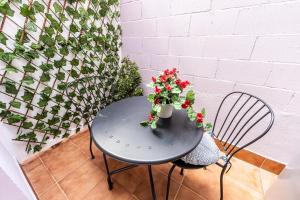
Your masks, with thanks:
[{"label": "round dark gray tabletop under the potted red flowers", "polygon": [[148,118],[150,109],[145,97],[131,97],[101,110],[92,123],[94,143],[107,155],[134,164],[174,161],[200,143],[203,130],[183,110],[160,119],[155,130],[142,127],[139,123]]}]

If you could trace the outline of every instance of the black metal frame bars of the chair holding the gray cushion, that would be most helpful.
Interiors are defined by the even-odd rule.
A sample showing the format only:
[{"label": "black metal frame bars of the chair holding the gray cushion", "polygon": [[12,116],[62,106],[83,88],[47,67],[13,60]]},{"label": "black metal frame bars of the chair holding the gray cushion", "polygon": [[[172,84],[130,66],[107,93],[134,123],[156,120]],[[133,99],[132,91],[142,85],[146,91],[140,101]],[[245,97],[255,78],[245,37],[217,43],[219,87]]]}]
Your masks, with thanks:
[{"label": "black metal frame bars of the chair holding the gray cushion", "polygon": [[[259,97],[256,97],[252,94],[249,94],[249,93],[246,93],[246,92],[239,92],[239,91],[235,91],[235,92],[231,92],[229,93],[228,95],[226,95],[219,108],[218,108],[218,111],[217,111],[217,114],[215,116],[215,120],[214,120],[214,126],[213,126],[213,129],[212,129],[212,133],[215,133],[215,125],[218,121],[218,118],[219,118],[219,114],[220,114],[220,110],[222,109],[222,106],[224,104],[224,102],[228,99],[228,97],[231,97],[232,95],[236,95],[236,94],[240,94],[240,96],[238,97],[238,99],[235,101],[235,103],[232,105],[232,107],[230,108],[229,112],[227,113],[227,116],[225,118],[225,120],[223,121],[222,125],[221,125],[221,128],[220,130],[218,131],[218,133],[214,136],[216,139],[218,139],[220,142],[221,142],[221,146],[223,147],[223,150],[225,152],[225,155],[226,155],[226,160],[225,160],[225,163],[224,164],[221,164],[219,162],[215,163],[216,165],[218,165],[219,167],[222,168],[222,171],[221,171],[221,175],[220,175],[220,199],[222,200],[223,199],[223,192],[224,192],[224,188],[223,188],[223,176],[225,174],[225,172],[227,173],[232,164],[230,162],[231,158],[236,154],[238,153],[239,151],[241,151],[242,149],[248,147],[249,145],[255,143],[256,141],[258,141],[259,139],[261,139],[263,136],[265,136],[269,130],[271,129],[271,127],[273,126],[273,123],[274,123],[274,112],[273,110],[271,109],[271,107],[265,103],[262,99],[260,99]],[[236,107],[236,105],[238,104],[238,102],[241,101],[241,98],[243,96],[246,96],[248,97],[247,100],[241,105],[241,107],[237,110],[237,112],[234,114],[233,118],[231,119],[231,121],[228,121],[229,122],[229,125],[227,127],[227,129],[225,130],[225,132],[223,134],[221,134],[223,128],[224,128],[224,125],[225,123],[227,122],[230,114],[232,113],[233,109]],[[250,99],[255,99],[256,101],[250,106],[250,108],[248,108],[248,110],[242,115],[242,117],[240,119],[237,119],[238,122],[237,124],[234,126],[232,132],[227,135],[228,130],[229,128],[231,127],[231,125],[233,125],[233,122],[234,120],[236,119],[237,115],[240,113],[240,111],[245,107],[245,105],[247,105],[247,103],[249,103]],[[233,133],[235,132],[237,126],[240,124],[240,122],[244,119],[244,117],[251,111],[252,112],[252,109],[255,107],[255,105],[257,105],[258,103],[261,103],[262,106],[260,106],[260,108],[254,112],[254,114],[252,114],[252,116],[246,121],[244,122],[244,124],[242,125],[242,128],[239,129],[239,131],[236,133],[236,135],[234,136],[234,138],[231,140],[231,142],[229,142],[229,139],[233,136]],[[246,127],[246,125],[258,114],[260,113],[263,108],[266,108],[267,109],[267,112],[265,114],[263,114],[259,119],[257,119],[254,123],[251,123],[252,125],[250,125],[250,127],[241,135],[241,137],[235,142],[235,140],[237,139],[237,137],[241,134],[241,131]],[[238,143],[241,142],[241,140],[245,137],[245,135],[247,135],[247,133],[249,133],[249,131],[255,127],[255,125],[257,125],[261,120],[263,120],[266,116],[270,115],[270,121],[269,121],[269,124],[268,126],[266,127],[266,129],[264,129],[264,131],[262,132],[262,134],[260,134],[259,136],[255,137],[254,139],[250,140],[250,142],[242,145],[241,147],[238,147]],[[225,139],[225,136],[228,136],[228,138],[224,141]],[[234,143],[235,142],[235,143]],[[234,143],[234,144],[233,144]],[[173,162],[173,165],[171,167],[171,169],[169,170],[169,174],[168,174],[168,183],[167,183],[167,194],[166,194],[166,199],[168,200],[168,197],[169,197],[169,190],[170,190],[170,179],[171,179],[171,176],[172,176],[172,172],[174,170],[175,167],[179,167],[181,168],[181,171],[180,171],[180,174],[183,175],[183,172],[184,172],[184,169],[201,169],[201,168],[204,168],[206,169],[207,166],[203,166],[203,165],[191,165],[191,164],[188,164],[188,163],[184,163],[183,161],[181,160],[177,160],[177,161],[174,161]],[[228,168],[228,169],[227,169]],[[226,171],[227,169],[227,171]]]}]

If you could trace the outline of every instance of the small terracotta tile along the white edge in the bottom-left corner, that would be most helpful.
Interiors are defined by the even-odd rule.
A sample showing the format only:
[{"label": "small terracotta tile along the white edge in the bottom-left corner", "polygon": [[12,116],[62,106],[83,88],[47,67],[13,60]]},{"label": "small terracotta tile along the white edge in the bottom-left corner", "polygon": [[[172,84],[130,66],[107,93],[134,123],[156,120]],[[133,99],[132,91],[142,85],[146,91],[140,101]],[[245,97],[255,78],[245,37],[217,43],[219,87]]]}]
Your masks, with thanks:
[{"label": "small terracotta tile along the white edge in the bottom-left corner", "polygon": [[55,184],[53,178],[42,163],[30,170],[26,175],[37,195],[45,193],[49,187]]}]

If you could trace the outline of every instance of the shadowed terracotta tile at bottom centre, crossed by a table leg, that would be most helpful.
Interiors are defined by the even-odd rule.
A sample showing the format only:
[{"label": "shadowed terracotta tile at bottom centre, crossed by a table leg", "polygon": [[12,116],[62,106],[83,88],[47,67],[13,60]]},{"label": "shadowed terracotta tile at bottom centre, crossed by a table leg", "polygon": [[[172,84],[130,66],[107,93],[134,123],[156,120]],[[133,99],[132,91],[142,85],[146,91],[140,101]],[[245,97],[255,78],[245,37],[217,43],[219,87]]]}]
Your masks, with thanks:
[{"label": "shadowed terracotta tile at bottom centre, crossed by a table leg", "polygon": [[[133,192],[133,195],[135,195],[138,199],[141,200],[151,200],[152,194],[150,189],[150,181],[148,174],[140,174],[143,178],[142,183],[140,183],[136,190]],[[167,190],[167,176],[165,176],[163,173],[153,170],[153,179],[154,179],[154,185],[155,185],[155,192],[158,200],[165,199],[166,196],[166,190]],[[179,190],[179,184],[175,181],[171,181],[171,187],[170,187],[170,199],[174,199],[175,195],[177,194]]]}]

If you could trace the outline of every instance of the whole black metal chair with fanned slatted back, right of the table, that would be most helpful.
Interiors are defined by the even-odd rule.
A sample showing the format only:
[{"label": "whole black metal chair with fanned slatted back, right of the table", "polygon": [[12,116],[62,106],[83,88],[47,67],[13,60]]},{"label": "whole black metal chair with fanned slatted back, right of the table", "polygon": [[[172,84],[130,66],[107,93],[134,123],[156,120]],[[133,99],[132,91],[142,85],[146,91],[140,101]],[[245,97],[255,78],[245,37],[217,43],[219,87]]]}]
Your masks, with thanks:
[{"label": "whole black metal chair with fanned slatted back, right of the table", "polygon": [[[221,117],[222,114],[224,118]],[[231,158],[265,136],[273,123],[274,113],[270,106],[254,95],[245,92],[232,92],[222,100],[212,129],[212,134],[217,140],[220,150],[225,153],[225,156],[219,160],[223,160],[223,163],[219,161],[215,163],[222,168],[220,175],[221,200],[224,190],[223,176],[231,168]],[[257,131],[255,128],[262,130]],[[175,167],[181,168],[180,174],[183,175],[184,169],[205,169],[207,166],[192,165],[182,160],[174,161],[168,174],[166,199],[169,196],[170,179]]]}]

